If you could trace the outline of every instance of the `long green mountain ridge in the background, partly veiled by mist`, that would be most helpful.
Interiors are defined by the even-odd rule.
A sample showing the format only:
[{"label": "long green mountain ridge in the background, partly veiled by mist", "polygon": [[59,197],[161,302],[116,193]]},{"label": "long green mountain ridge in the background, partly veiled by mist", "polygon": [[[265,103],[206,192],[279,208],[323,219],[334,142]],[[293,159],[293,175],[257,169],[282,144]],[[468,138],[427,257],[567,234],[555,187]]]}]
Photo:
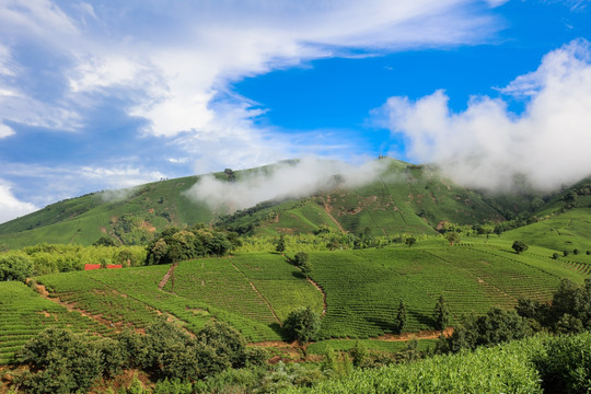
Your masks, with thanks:
[{"label": "long green mountain ridge in the background, partly veiled by mist", "polygon": [[[204,176],[93,193],[0,224],[0,244],[13,248],[42,242],[90,245],[103,235],[123,244],[143,244],[167,227],[196,222],[254,235],[311,233],[322,225],[352,234],[433,234],[445,222],[498,222],[533,210],[534,194],[489,195],[459,186],[430,166],[387,158],[381,162],[380,172],[364,183],[349,186],[335,173],[331,186],[304,197],[282,196],[232,215],[227,215],[228,207],[192,197],[189,190],[199,187]],[[250,182],[252,174],[296,165],[293,161],[212,176],[232,187]]]}]

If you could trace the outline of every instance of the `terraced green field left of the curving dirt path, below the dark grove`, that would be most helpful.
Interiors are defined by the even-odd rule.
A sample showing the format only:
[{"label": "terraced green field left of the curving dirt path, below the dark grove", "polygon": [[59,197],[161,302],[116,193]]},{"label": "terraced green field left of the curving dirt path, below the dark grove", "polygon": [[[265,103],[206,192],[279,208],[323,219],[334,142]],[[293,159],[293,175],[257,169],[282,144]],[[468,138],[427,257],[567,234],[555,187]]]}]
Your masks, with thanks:
[{"label": "terraced green field left of the curving dirt path, below the dark grove", "polygon": [[294,305],[311,305],[318,313],[323,309],[321,292],[281,255],[183,262],[160,290],[169,269],[66,273],[38,281],[60,302],[116,329],[142,329],[155,315],[169,313],[192,332],[217,318],[232,324],[250,340],[279,340],[280,323]]}]

